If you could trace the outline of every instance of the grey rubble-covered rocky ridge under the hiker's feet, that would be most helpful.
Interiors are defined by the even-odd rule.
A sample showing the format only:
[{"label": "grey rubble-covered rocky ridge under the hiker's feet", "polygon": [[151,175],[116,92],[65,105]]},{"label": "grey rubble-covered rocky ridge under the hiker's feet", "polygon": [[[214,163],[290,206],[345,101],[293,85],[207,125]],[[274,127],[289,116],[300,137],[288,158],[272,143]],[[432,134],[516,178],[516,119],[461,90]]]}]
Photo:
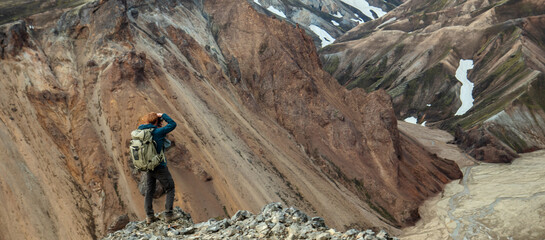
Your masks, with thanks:
[{"label": "grey rubble-covered rocky ridge under the hiker's feet", "polygon": [[174,212],[181,218],[171,223],[162,220],[149,225],[145,221],[129,222],[124,229],[102,239],[397,239],[384,230],[378,233],[355,229],[339,232],[328,228],[321,217],[311,218],[296,208],[282,208],[280,203],[264,206],[257,215],[240,210],[231,218],[210,219],[197,224],[180,208],[175,208]]}]

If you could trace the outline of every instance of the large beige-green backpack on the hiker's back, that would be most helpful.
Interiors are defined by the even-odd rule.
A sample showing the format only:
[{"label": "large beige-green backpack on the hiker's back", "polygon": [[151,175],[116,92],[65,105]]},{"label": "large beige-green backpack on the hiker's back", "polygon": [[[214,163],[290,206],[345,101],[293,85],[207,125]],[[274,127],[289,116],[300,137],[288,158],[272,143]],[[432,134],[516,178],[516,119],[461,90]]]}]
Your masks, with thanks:
[{"label": "large beige-green backpack on the hiker's back", "polygon": [[163,151],[157,153],[151,132],[153,128],[136,129],[131,132],[131,158],[133,165],[142,171],[151,171],[165,159]]}]

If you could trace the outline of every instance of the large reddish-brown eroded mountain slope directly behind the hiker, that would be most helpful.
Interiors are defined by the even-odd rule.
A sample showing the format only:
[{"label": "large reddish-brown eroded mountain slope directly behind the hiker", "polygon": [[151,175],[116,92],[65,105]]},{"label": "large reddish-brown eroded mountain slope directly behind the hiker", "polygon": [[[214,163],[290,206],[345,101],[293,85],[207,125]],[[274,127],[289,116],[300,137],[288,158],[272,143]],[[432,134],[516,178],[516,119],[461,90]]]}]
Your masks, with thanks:
[{"label": "large reddish-brown eroded mountain slope directly behind the hiker", "polygon": [[345,90],[302,29],[246,1],[55,13],[0,27],[3,238],[91,239],[142,218],[127,146],[150,111],[178,122],[175,205],[196,221],[280,201],[339,229],[391,228],[461,176],[399,133],[386,92]]}]

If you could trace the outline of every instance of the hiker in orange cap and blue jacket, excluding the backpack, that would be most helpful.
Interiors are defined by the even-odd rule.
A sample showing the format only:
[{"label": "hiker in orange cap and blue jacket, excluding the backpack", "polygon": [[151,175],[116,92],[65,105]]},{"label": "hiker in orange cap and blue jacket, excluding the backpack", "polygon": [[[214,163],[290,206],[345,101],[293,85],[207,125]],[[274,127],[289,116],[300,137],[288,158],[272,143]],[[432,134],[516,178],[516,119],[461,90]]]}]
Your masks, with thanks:
[{"label": "hiker in orange cap and blue jacket, excluding the backpack", "polygon": [[[167,122],[167,125],[164,127],[161,127],[162,120],[165,120]],[[166,157],[164,157],[164,148],[165,148],[165,142],[168,141],[165,137],[167,133],[171,132],[176,128],[176,122],[172,120],[167,114],[165,113],[148,113],[144,116],[142,116],[138,120],[138,129],[149,129],[153,128],[154,130],[151,132],[153,141],[156,143],[156,150],[158,154],[163,154],[163,160],[157,167],[155,167],[153,170],[147,171],[147,190],[146,190],[146,197],[144,201],[144,206],[146,209],[146,223],[151,224],[152,222],[155,222],[158,220],[157,217],[155,217],[155,214],[153,212],[153,194],[155,193],[155,182],[156,180],[159,180],[163,188],[165,189],[166,193],[166,201],[165,201],[165,214],[164,218],[166,222],[171,222],[175,220],[175,216],[172,212],[172,205],[174,203],[174,181],[172,180],[172,176],[170,175],[170,172],[168,171],[167,167],[167,160]]]}]

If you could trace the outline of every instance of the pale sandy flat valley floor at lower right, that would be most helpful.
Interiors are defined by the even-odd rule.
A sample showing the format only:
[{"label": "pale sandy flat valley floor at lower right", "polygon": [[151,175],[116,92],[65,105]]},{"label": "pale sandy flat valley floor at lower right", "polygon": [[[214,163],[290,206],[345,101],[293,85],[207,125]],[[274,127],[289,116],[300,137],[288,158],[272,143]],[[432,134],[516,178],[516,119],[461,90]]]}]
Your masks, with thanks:
[{"label": "pale sandy flat valley floor at lower right", "polygon": [[[406,124],[400,129],[411,136],[410,129],[423,129]],[[419,141],[433,148],[434,134],[425,131],[420,134],[427,137]],[[458,164],[464,178],[426,201],[422,219],[403,229],[401,239],[545,239],[545,151],[522,154],[511,164]]]}]

